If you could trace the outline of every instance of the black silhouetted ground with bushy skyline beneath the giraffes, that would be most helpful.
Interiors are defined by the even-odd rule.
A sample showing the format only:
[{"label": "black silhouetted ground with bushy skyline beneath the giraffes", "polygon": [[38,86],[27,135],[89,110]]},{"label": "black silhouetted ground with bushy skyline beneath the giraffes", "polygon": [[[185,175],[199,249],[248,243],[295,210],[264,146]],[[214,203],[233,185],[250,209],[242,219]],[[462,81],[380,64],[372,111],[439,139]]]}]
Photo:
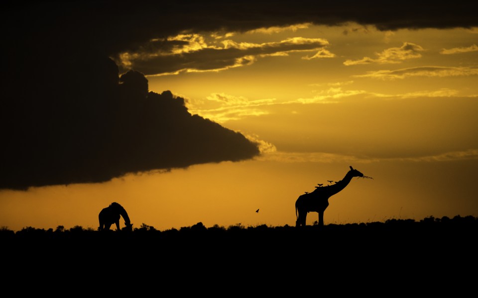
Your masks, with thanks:
[{"label": "black silhouetted ground with bushy skyline beneath the giraffes", "polygon": [[[477,232],[478,218],[456,216],[302,228],[202,223],[164,231],[143,224],[129,232],[4,228],[0,237],[5,272],[48,276],[50,282],[145,286],[137,291],[180,283],[184,287],[176,290],[183,294],[207,292],[218,283],[239,292],[268,285],[269,294],[281,294],[283,287],[301,291],[301,283],[312,283],[309,293],[322,285],[338,295],[350,293],[350,287],[377,291],[379,284],[387,289],[383,295],[453,288],[456,296],[476,284]],[[332,286],[338,280],[347,285]]]}]

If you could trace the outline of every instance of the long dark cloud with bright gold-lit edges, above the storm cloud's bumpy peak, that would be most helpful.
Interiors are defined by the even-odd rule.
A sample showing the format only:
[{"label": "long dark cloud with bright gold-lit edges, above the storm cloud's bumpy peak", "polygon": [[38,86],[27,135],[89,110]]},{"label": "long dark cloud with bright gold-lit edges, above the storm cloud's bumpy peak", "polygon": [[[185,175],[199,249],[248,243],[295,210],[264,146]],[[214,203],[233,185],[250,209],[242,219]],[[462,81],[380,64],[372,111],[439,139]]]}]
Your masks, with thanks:
[{"label": "long dark cloud with bright gold-lit edges, above the storm cloud's bumpy peak", "polygon": [[[293,52],[318,51],[315,56],[306,59],[334,57],[323,49],[329,45],[328,41],[320,38],[294,37],[260,44],[214,38],[208,44],[205,37],[199,34],[181,34],[169,37],[161,44],[167,45],[171,41],[175,42],[174,46],[145,46],[137,52],[121,53],[117,63],[124,69],[134,69],[146,75],[164,75],[224,71],[250,65],[261,57],[287,56]],[[158,51],[151,51],[155,48]]]}]

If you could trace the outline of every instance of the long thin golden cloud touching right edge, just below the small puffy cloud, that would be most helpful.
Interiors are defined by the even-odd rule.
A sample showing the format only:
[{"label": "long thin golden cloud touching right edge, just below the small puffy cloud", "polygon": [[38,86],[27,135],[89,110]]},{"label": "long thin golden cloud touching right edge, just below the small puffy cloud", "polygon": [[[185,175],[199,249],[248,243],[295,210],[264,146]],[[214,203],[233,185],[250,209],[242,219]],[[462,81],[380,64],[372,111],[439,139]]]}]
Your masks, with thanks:
[{"label": "long thin golden cloud touching right edge, just below the small puffy cloud", "polygon": [[424,66],[399,70],[382,70],[375,72],[367,72],[366,74],[354,75],[354,77],[370,77],[377,79],[403,79],[412,76],[468,76],[477,75],[478,68],[472,67],[441,67],[441,66]]}]

